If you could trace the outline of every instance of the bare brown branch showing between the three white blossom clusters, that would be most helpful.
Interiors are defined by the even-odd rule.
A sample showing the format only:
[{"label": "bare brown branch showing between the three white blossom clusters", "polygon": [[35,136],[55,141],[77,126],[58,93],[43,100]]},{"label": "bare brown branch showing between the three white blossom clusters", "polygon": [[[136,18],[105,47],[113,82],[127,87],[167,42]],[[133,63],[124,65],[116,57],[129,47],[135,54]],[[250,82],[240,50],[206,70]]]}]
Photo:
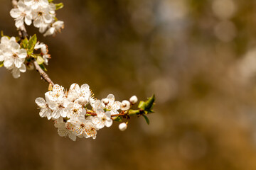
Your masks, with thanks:
[{"label": "bare brown branch showing between the three white blossom clusters", "polygon": [[[14,8],[17,8],[18,1],[17,0],[11,0],[11,4],[12,4],[12,6],[14,6]],[[21,26],[20,28],[18,28],[18,35],[20,36],[21,39],[24,39],[24,38],[28,37],[28,33],[27,33],[26,28],[25,28],[24,25]],[[44,72],[43,69],[41,69],[41,67],[38,65],[38,63],[36,61],[33,61],[33,64],[35,65],[36,70],[41,75],[41,79],[44,79],[45,81],[47,81],[49,83],[49,85],[51,84],[52,86],[54,86],[53,81],[50,79],[48,74],[46,74],[46,72]]]}]

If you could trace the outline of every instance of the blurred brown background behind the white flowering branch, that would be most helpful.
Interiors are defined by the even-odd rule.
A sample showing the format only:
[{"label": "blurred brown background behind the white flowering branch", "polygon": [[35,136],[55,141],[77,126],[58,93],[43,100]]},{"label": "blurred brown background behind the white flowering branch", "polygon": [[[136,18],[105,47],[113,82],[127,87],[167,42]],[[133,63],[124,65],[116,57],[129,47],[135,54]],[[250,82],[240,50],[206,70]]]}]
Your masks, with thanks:
[{"label": "blurred brown background behind the white flowering branch", "polygon": [[[11,2],[0,3],[0,29],[17,35]],[[53,81],[119,101],[156,94],[156,113],[73,142],[38,115],[39,74],[1,68],[0,169],[256,169],[255,0],[63,3],[63,32],[38,35]]]}]

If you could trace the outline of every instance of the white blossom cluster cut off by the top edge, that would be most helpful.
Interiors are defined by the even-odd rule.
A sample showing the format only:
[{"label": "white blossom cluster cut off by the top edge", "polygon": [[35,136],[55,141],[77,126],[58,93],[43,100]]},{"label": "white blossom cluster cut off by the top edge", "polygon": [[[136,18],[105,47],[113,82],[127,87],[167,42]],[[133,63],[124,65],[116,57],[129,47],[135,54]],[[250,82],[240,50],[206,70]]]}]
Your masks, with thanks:
[{"label": "white blossom cluster cut off by the top edge", "polygon": [[48,0],[19,0],[16,8],[11,9],[11,17],[15,19],[15,26],[21,28],[24,22],[30,26],[39,28],[40,33],[55,35],[64,27],[63,21],[58,21],[55,17],[55,10],[61,8],[63,4],[53,4]]}]

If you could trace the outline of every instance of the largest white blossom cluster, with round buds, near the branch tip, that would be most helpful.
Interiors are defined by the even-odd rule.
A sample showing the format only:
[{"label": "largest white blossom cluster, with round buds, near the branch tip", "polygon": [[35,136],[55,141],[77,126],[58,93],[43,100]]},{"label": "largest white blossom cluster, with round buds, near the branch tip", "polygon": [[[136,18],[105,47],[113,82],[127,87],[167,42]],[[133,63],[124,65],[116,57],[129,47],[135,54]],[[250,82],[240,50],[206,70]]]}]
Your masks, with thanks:
[{"label": "largest white blossom cluster, with round buds, near the branch tip", "polygon": [[[127,111],[131,104],[137,102],[136,96],[131,101],[115,101],[112,94],[97,100],[87,84],[72,84],[69,91],[64,91],[62,86],[55,84],[52,91],[46,92],[45,98],[46,100],[36,98],[36,103],[41,108],[39,115],[54,120],[58,134],[74,141],[76,137],[95,139],[97,130],[110,127],[119,110]],[[120,130],[126,129],[127,125],[124,124],[119,125]]]}]

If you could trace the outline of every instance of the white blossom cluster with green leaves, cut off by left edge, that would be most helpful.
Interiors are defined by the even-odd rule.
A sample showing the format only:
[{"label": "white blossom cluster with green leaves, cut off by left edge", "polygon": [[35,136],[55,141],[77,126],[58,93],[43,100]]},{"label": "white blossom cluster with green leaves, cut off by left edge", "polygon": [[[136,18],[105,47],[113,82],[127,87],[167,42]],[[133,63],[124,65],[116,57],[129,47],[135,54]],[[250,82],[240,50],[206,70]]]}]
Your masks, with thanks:
[{"label": "white blossom cluster with green leaves, cut off by left edge", "polygon": [[[33,38],[30,39],[32,42]],[[25,42],[26,41],[26,42]],[[21,43],[18,43],[21,42]],[[48,47],[43,42],[36,42],[34,39],[34,45],[31,49],[28,49],[29,41],[22,40],[18,41],[17,38],[8,36],[1,37],[0,42],[0,67],[6,67],[11,70],[14,78],[21,76],[21,72],[26,72],[26,69],[33,69],[31,60],[37,60],[38,64],[48,64],[50,55],[48,54]],[[31,45],[33,43],[30,43]],[[37,52],[37,54],[35,54]],[[33,56],[33,57],[31,57]],[[39,61],[41,59],[42,61]],[[28,62],[30,61],[30,62]]]}]

